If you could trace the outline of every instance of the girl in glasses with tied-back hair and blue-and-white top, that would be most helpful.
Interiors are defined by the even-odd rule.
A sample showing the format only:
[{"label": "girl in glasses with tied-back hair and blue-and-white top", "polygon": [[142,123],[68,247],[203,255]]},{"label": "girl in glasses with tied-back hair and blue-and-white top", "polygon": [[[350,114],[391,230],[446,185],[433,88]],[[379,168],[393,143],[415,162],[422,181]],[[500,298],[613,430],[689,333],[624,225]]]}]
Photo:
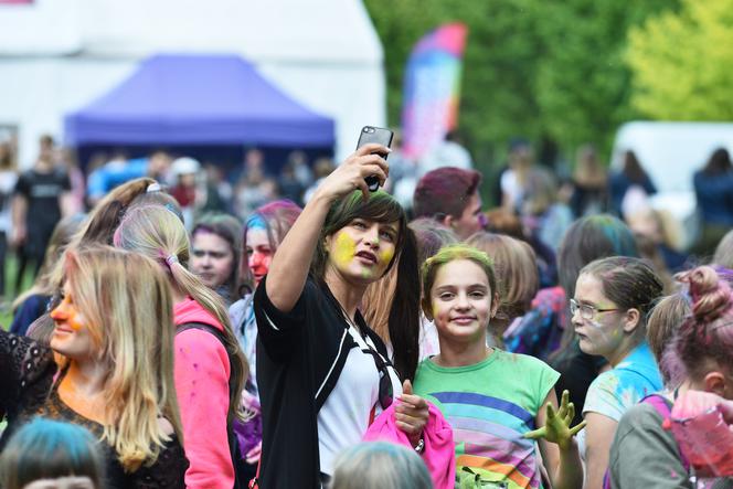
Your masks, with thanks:
[{"label": "girl in glasses with tied-back hair and blue-and-white top", "polygon": [[639,258],[614,256],[586,265],[571,300],[572,325],[584,353],[606,359],[610,370],[591,384],[578,435],[586,488],[599,488],[618,421],[648,394],[662,389],[646,340],[646,318],[663,284]]}]

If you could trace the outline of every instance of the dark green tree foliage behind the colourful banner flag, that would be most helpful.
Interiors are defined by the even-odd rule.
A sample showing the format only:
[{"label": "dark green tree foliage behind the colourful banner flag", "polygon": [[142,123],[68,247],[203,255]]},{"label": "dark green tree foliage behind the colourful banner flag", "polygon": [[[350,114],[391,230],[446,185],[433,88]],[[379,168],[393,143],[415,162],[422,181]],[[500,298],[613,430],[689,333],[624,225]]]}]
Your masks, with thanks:
[{"label": "dark green tree foliage behind the colourful banner flag", "polygon": [[405,64],[427,31],[467,24],[460,130],[479,168],[512,136],[570,152],[604,149],[633,118],[627,31],[677,0],[365,0],[384,45],[391,125],[400,124]]}]

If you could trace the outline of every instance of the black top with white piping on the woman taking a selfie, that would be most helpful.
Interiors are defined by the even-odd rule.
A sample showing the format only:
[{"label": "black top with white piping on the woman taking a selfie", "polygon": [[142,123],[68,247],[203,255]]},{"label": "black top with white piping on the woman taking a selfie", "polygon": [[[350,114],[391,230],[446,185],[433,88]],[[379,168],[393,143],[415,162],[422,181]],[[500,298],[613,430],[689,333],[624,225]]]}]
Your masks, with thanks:
[{"label": "black top with white piping on the woman taking a selfie", "polygon": [[[297,304],[285,313],[269,301],[266,280],[254,298],[263,417],[259,487],[318,488],[318,411],[357,342],[326,285],[308,278]],[[357,325],[386,358],[384,343],[359,312]]]}]

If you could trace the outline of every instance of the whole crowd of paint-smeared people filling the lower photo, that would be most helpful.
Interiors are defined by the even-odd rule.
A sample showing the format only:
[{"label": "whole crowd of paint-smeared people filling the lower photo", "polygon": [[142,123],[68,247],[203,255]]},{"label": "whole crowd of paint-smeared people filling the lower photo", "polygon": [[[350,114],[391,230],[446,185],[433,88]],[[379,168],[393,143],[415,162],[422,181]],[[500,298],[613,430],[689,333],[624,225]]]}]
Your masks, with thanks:
[{"label": "whole crowd of paint-smeared people filling the lower photo", "polygon": [[557,182],[510,149],[487,210],[465,153],[380,145],[277,183],[251,150],[229,190],[157,152],[79,199],[44,139],[0,185],[38,269],[0,328],[0,488],[733,488],[727,152],[683,255],[634,153]]}]

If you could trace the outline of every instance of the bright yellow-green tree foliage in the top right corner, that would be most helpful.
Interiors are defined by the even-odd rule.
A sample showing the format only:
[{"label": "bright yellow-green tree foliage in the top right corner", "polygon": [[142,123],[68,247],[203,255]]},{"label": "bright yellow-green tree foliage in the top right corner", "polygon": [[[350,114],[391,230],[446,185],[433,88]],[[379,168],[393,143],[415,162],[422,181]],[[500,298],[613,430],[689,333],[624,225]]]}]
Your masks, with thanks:
[{"label": "bright yellow-green tree foliage in the top right corner", "polygon": [[682,0],[629,33],[634,106],[666,120],[732,120],[733,0]]}]

